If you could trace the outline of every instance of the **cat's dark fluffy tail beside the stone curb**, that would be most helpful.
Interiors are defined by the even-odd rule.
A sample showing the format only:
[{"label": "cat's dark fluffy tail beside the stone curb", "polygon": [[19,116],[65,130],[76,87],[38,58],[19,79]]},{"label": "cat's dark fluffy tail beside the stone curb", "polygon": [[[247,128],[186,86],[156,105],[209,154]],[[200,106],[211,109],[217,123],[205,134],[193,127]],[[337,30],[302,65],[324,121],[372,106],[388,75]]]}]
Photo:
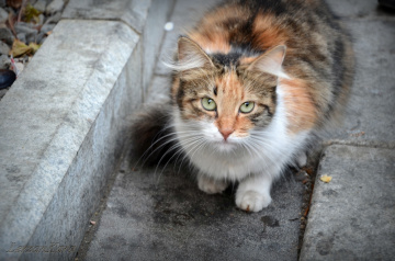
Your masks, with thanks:
[{"label": "cat's dark fluffy tail beside the stone curb", "polygon": [[132,157],[144,166],[167,163],[177,144],[171,105],[160,104],[139,113],[132,127]]}]

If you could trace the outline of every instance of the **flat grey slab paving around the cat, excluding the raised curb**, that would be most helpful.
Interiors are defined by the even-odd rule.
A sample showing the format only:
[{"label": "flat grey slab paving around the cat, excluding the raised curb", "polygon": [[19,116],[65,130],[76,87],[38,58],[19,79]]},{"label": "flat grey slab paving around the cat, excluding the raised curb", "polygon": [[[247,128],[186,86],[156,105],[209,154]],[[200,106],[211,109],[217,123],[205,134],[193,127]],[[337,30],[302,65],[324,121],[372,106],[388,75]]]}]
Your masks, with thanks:
[{"label": "flat grey slab paving around the cat, excluding the raised curb", "polygon": [[[176,1],[151,99],[170,81],[160,60],[212,3]],[[274,185],[268,208],[247,214],[235,207],[232,188],[206,195],[185,169],[135,168],[124,158],[78,260],[394,260],[395,14],[371,0],[329,4],[353,36],[357,73],[345,125],[317,146],[309,207],[303,171]]]}]

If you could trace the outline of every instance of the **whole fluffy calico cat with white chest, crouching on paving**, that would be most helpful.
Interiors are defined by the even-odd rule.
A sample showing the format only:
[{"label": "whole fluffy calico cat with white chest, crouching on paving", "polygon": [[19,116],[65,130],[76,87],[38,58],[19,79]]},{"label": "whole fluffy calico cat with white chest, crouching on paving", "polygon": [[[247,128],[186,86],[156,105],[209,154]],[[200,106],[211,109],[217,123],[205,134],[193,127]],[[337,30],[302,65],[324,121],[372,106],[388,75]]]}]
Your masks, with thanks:
[{"label": "whole fluffy calico cat with white chest, crouching on paving", "polygon": [[185,157],[200,190],[238,182],[236,205],[259,212],[273,180],[303,164],[313,137],[341,114],[353,53],[323,1],[225,1],[179,37],[171,68],[170,101],[134,125],[136,154]]}]

